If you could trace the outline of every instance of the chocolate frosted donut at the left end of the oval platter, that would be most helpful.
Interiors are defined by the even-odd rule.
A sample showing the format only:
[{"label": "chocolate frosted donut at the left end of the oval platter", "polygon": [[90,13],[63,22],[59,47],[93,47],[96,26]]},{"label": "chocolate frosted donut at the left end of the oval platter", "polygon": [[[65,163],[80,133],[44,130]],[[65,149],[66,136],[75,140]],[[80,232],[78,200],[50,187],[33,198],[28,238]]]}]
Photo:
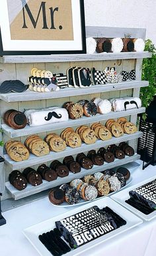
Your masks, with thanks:
[{"label": "chocolate frosted donut at the left end of the oval platter", "polygon": [[65,195],[62,190],[51,190],[48,194],[51,203],[59,205],[65,201]]}]

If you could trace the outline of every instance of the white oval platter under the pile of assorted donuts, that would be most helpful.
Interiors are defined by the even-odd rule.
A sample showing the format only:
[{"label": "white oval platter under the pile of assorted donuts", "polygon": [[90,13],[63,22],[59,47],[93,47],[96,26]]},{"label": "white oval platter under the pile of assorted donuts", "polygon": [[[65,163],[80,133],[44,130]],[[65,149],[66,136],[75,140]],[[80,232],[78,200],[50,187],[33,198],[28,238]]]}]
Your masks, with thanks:
[{"label": "white oval platter under the pile of assorted donuts", "polygon": [[[130,177],[130,179],[126,182],[126,185],[125,185],[123,188],[120,188],[120,190],[123,190],[124,188],[126,188],[129,184],[131,184],[131,182],[132,182],[132,177]],[[112,194],[114,194],[114,193],[117,193],[117,191],[116,191],[116,192],[112,192],[112,193],[108,193],[108,195],[103,195],[103,196],[97,197],[97,198],[96,198],[95,200],[93,200],[93,201],[97,201],[97,200],[100,199],[100,198],[104,198],[104,197],[109,196],[109,195],[112,195]],[[77,204],[69,204],[69,203],[67,203],[66,201],[64,201],[64,202],[61,203],[60,205],[56,205],[56,204],[54,204],[54,203],[52,203],[52,205],[55,206],[55,207],[63,207],[63,208],[66,208],[66,207],[67,207],[67,208],[68,208],[68,207],[74,207],[74,206],[83,205],[83,204],[89,203],[89,202],[91,202],[91,201],[85,201],[85,200],[81,199],[81,200],[79,201],[79,203],[77,203]]]}]

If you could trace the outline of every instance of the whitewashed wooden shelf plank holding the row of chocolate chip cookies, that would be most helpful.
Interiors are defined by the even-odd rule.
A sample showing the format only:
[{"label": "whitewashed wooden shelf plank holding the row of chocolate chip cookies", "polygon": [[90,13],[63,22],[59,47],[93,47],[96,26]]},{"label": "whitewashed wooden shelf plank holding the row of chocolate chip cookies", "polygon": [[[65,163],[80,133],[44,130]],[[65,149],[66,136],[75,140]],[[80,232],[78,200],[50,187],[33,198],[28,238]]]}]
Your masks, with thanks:
[{"label": "whitewashed wooden shelf plank holding the row of chocolate chip cookies", "polygon": [[100,147],[108,146],[111,144],[118,144],[120,142],[126,142],[128,140],[134,140],[136,138],[140,138],[142,136],[142,132],[136,132],[134,134],[124,134],[120,138],[112,137],[110,140],[97,140],[94,144],[85,144],[82,143],[81,147],[79,148],[70,148],[67,146],[67,148],[64,151],[61,152],[50,152],[50,154],[46,156],[34,156],[33,154],[30,154],[28,160],[24,160],[21,162],[15,162],[9,158],[7,154],[4,155],[5,158],[5,164],[7,164],[12,170],[19,170],[23,168],[27,168],[30,166],[34,166],[36,164],[42,164],[44,162],[49,162],[53,160],[57,160],[59,158],[64,158],[65,156],[70,156],[74,154],[78,154],[81,152],[86,152],[89,150],[95,150]]}]

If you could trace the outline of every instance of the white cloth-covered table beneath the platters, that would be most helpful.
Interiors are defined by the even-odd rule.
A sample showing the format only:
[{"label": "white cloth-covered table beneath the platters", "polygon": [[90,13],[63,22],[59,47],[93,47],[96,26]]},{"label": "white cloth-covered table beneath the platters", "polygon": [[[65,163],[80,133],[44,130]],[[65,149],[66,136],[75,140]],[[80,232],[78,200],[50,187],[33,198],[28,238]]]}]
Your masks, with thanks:
[{"label": "white cloth-covered table beneath the platters", "polygon": [[[156,166],[148,166],[145,170],[137,168],[132,172],[133,182],[130,186],[154,175],[156,177]],[[7,220],[7,224],[0,227],[0,255],[39,256],[24,237],[23,229],[65,211],[69,211],[69,208],[54,207],[46,197],[4,212],[3,216]],[[155,234],[156,218],[149,222],[143,221],[134,229],[86,251],[83,256],[155,256]]]}]

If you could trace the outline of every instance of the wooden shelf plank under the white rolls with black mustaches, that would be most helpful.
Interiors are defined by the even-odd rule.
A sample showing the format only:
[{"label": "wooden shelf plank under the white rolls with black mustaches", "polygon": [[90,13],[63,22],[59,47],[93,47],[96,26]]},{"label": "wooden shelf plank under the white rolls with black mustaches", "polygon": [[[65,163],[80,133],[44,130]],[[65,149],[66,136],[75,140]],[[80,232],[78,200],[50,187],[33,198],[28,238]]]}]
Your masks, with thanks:
[{"label": "wooden shelf plank under the white rolls with black mustaches", "polygon": [[20,136],[27,136],[30,134],[37,134],[40,132],[50,132],[52,130],[59,130],[61,128],[67,128],[67,127],[73,127],[73,126],[79,126],[83,124],[89,124],[92,122],[99,122],[102,120],[108,120],[109,118],[119,118],[121,116],[130,116],[132,114],[140,114],[145,112],[145,108],[134,108],[127,111],[120,111],[120,112],[109,112],[108,114],[96,114],[96,116],[83,116],[80,119],[72,120],[69,119],[68,122],[56,122],[54,124],[46,124],[43,126],[34,126],[30,127],[29,125],[26,125],[23,129],[14,130],[13,128],[7,126],[6,124],[2,124],[1,127],[3,129],[3,132],[7,134],[10,138],[17,138]]}]

